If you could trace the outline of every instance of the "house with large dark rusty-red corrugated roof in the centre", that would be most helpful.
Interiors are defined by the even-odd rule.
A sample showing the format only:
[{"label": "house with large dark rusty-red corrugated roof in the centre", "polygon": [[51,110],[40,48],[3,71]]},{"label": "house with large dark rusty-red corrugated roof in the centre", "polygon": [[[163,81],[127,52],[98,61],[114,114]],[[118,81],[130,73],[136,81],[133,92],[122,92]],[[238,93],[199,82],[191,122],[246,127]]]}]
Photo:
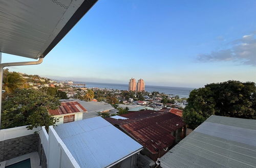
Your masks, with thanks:
[{"label": "house with large dark rusty-red corrugated roof in the centre", "polygon": [[182,118],[169,112],[154,110],[133,111],[105,118],[140,143],[142,154],[156,161],[185,137]]}]

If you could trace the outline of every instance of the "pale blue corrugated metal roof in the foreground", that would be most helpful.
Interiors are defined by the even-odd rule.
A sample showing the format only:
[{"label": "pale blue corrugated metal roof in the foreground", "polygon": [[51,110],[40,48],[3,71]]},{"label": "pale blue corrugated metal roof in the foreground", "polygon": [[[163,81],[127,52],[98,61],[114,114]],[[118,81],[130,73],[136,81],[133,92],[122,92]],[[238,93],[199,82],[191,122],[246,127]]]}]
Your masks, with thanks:
[{"label": "pale blue corrugated metal roof in the foreground", "polygon": [[101,117],[54,128],[81,167],[106,167],[142,146]]}]

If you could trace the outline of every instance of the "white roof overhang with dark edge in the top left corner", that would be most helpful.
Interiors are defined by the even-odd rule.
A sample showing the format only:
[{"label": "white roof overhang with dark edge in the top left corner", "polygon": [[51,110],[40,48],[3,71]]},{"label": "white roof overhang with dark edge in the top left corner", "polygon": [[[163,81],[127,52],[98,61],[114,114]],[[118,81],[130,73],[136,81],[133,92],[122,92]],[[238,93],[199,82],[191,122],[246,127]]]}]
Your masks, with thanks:
[{"label": "white roof overhang with dark edge in the top left corner", "polygon": [[0,52],[44,58],[97,0],[0,2]]}]

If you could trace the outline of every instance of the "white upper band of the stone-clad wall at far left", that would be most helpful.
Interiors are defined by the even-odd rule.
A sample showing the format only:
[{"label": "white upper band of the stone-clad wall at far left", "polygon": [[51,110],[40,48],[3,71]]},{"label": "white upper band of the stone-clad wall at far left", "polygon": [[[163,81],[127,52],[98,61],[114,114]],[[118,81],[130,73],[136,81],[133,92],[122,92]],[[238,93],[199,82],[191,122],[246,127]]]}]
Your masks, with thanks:
[{"label": "white upper band of the stone-clad wall at far left", "polygon": [[14,127],[8,129],[0,130],[0,141],[5,141],[6,139],[11,139],[20,136],[26,136],[33,134],[35,131],[40,130],[40,127],[34,128],[32,130],[28,130],[27,126]]}]

